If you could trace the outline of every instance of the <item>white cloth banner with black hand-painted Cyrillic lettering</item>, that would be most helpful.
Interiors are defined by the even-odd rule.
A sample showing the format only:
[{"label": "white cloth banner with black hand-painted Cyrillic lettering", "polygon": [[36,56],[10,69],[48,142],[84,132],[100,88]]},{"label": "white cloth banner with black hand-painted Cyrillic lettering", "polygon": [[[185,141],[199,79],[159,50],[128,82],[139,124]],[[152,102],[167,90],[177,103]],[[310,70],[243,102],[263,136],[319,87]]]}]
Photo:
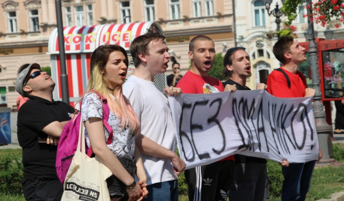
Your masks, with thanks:
[{"label": "white cloth banner with black hand-painted Cyrillic lettering", "polygon": [[240,153],[290,163],[318,159],[311,98],[263,90],[169,97],[186,169]]}]

